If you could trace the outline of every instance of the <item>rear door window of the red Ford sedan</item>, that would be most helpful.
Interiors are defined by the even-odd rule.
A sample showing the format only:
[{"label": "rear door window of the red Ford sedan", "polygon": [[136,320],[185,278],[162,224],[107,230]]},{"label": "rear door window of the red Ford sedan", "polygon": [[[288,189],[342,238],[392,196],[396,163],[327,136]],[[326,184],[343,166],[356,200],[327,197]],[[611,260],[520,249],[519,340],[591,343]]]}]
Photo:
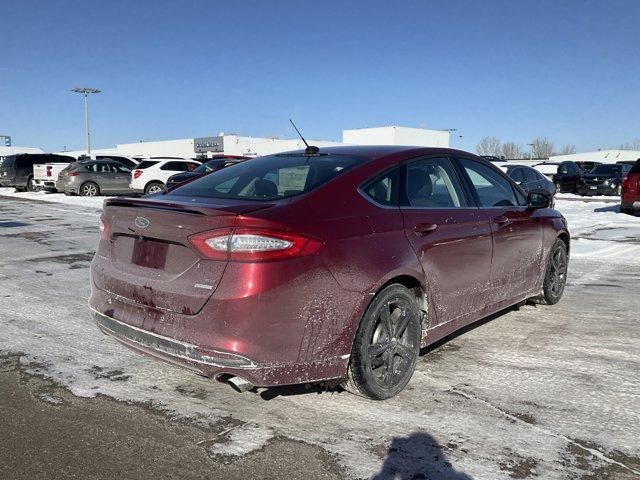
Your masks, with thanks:
[{"label": "rear door window of the red Ford sedan", "polygon": [[403,204],[412,207],[466,206],[453,166],[447,158],[424,158],[405,167]]}]

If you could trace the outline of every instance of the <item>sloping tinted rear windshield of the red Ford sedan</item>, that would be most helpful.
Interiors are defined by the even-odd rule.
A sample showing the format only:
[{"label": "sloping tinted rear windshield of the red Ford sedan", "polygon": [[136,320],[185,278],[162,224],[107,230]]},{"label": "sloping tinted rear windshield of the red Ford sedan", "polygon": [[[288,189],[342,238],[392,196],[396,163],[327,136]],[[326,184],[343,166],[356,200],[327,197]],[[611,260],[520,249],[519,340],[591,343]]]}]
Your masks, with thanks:
[{"label": "sloping tinted rear windshield of the red Ford sedan", "polygon": [[343,155],[259,157],[213,172],[171,193],[246,200],[287,198],[309,192],[362,161]]}]

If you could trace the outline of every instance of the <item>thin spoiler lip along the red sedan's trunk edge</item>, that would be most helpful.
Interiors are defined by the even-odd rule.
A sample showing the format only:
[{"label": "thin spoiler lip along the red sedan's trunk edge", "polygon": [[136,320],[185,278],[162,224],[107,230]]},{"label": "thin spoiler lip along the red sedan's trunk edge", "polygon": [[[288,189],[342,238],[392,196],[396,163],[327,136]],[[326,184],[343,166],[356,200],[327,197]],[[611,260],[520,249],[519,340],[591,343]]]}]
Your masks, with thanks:
[{"label": "thin spoiler lip along the red sedan's trunk edge", "polygon": [[[191,199],[191,197],[182,197]],[[213,200],[213,199],[212,199]],[[275,203],[260,202],[248,203],[246,205],[233,204],[225,205],[223,203],[194,202],[189,200],[169,200],[164,198],[135,198],[135,197],[119,197],[108,198],[104,201],[105,207],[136,207],[150,208],[156,210],[171,210],[191,215],[210,215],[213,212],[223,212],[228,215],[241,215],[244,213],[264,210],[275,206]]]}]

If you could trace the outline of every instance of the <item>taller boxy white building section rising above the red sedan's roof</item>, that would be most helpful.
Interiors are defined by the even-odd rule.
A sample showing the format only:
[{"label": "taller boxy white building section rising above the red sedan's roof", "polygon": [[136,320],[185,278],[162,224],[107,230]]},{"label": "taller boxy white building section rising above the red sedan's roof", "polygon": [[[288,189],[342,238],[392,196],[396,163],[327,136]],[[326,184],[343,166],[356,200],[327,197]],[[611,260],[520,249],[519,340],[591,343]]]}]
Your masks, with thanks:
[{"label": "taller boxy white building section rising above the red sedan's roof", "polygon": [[355,128],[342,131],[342,141],[352,145],[411,145],[449,147],[449,132],[411,127]]}]

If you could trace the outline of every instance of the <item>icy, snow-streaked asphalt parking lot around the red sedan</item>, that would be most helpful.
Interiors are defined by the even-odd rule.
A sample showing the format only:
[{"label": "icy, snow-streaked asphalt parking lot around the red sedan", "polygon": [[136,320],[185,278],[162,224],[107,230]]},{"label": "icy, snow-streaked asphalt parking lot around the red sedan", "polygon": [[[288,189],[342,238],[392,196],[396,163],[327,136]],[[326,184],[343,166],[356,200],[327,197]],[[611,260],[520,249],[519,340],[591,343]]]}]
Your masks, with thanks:
[{"label": "icy, snow-streaked asphalt parking lot around the red sedan", "polygon": [[430,348],[372,402],[238,394],[125,349],[86,306],[99,209],[0,196],[0,478],[640,478],[640,218],[558,208],[580,232],[563,300]]}]

